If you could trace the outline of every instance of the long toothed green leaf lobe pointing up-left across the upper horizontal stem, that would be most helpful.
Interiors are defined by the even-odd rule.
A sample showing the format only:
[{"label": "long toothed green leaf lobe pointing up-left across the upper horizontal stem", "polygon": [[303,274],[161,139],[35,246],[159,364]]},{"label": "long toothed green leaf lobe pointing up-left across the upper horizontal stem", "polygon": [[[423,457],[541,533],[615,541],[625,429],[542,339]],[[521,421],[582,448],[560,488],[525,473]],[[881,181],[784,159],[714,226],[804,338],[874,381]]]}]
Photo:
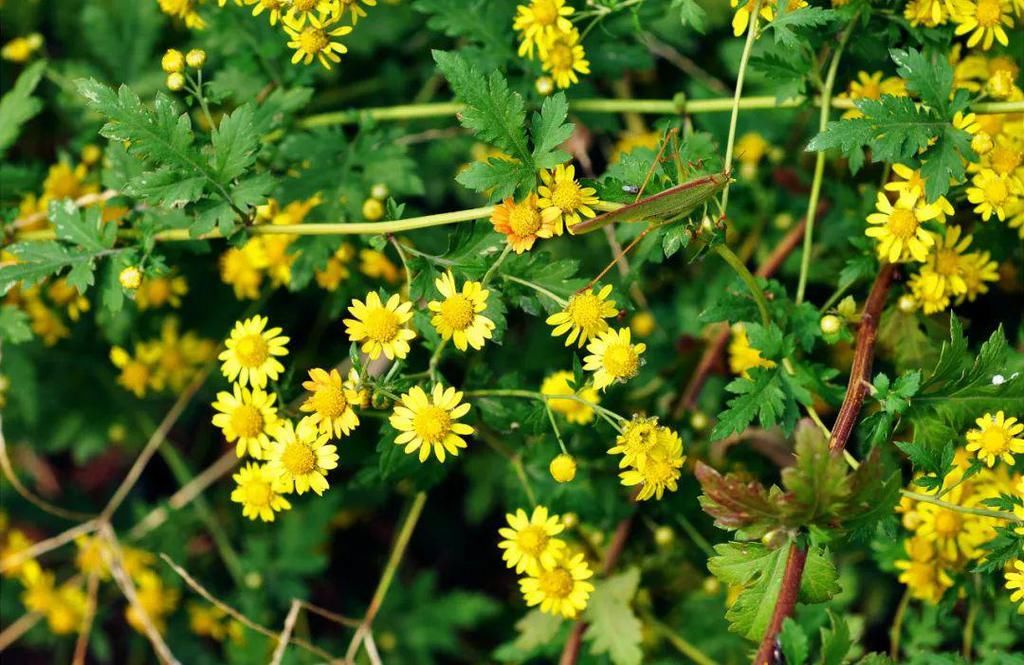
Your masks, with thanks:
[{"label": "long toothed green leaf lobe pointing up-left across the upper horizontal stem", "polygon": [[530,162],[526,149],[526,111],[522,97],[509,90],[499,72],[484,77],[458,53],[433,51],[434,61],[447,79],[455,96],[466,105],[460,122],[480,140],[508,153],[520,162]]}]

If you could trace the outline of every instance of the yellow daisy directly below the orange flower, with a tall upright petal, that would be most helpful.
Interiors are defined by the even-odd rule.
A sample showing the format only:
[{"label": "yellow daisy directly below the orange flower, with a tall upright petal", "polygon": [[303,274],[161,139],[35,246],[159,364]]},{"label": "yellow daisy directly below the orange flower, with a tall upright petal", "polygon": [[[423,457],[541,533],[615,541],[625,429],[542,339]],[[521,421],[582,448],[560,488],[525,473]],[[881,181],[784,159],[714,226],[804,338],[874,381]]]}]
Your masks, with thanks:
[{"label": "yellow daisy directly below the orange flower, with a tall upright petal", "polygon": [[434,280],[434,286],[444,298],[427,303],[430,311],[435,313],[430,324],[437,334],[441,339],[454,340],[459,350],[464,351],[468,346],[483,348],[484,340],[490,339],[495,329],[495,322],[482,314],[490,292],[473,281],[465,282],[459,291],[451,271]]}]

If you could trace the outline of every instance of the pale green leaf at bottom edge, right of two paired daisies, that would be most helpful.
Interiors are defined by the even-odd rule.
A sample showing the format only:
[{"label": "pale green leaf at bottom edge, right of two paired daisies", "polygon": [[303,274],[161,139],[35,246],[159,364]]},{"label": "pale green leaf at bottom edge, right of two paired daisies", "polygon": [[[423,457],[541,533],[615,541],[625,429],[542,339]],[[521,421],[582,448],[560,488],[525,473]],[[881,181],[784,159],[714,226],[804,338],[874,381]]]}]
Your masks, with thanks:
[{"label": "pale green leaf at bottom edge, right of two paired daisies", "polygon": [[614,665],[639,665],[643,661],[640,620],[630,602],[640,584],[640,571],[630,569],[594,585],[583,617],[590,624],[584,639],[595,656],[607,654]]}]

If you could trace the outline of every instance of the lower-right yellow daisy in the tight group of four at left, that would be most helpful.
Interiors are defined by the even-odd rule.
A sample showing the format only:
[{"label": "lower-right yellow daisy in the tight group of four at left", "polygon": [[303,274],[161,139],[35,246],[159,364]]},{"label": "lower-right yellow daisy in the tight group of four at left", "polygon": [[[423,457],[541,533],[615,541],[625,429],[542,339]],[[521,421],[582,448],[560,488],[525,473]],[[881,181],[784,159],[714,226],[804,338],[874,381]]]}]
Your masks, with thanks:
[{"label": "lower-right yellow daisy in the tight group of four at left", "polygon": [[274,428],[267,454],[267,471],[287,489],[298,494],[312,490],[323,495],[330,487],[327,472],[338,466],[338,448],[328,444],[330,434],[319,433],[306,417],[298,425],[281,420]]}]

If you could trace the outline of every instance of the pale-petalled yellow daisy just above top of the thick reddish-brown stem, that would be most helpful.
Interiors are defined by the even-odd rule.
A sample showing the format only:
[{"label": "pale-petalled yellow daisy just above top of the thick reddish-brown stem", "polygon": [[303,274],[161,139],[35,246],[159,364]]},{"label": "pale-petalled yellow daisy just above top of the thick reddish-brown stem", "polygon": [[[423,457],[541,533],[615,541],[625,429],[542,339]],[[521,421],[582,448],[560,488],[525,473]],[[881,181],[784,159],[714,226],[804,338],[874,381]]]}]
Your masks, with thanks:
[{"label": "pale-petalled yellow daisy just above top of the thick reddish-brown stem", "polygon": [[911,191],[901,192],[895,205],[879,192],[874,207],[878,212],[867,215],[867,223],[872,225],[864,235],[879,241],[879,259],[891,263],[910,258],[921,262],[927,260],[928,248],[935,239],[922,222],[938,217],[937,208],[919,202]]}]

